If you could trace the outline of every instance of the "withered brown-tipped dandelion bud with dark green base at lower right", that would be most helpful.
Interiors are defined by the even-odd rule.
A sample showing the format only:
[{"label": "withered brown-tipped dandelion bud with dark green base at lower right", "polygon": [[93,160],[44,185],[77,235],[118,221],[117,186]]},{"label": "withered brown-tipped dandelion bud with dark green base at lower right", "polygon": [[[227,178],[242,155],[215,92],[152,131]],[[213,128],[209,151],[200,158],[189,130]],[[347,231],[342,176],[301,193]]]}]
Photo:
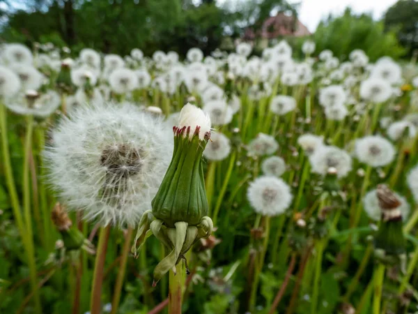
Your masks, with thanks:
[{"label": "withered brown-tipped dandelion bud with dark green base at lower right", "polygon": [[378,186],[376,195],[381,210],[381,222],[375,236],[375,248],[383,251],[385,256],[401,255],[405,253],[405,239],[402,230],[402,202],[384,184]]}]

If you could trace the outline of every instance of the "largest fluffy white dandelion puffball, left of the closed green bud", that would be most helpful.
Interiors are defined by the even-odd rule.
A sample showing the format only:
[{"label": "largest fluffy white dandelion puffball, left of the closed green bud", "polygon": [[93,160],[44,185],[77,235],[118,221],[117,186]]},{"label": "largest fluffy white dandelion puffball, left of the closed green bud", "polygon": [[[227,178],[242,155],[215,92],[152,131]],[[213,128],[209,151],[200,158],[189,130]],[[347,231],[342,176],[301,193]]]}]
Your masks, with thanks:
[{"label": "largest fluffy white dandelion puffball, left of the closed green bud", "polygon": [[101,225],[139,223],[173,151],[161,119],[124,103],[81,107],[52,133],[49,181],[70,209]]}]

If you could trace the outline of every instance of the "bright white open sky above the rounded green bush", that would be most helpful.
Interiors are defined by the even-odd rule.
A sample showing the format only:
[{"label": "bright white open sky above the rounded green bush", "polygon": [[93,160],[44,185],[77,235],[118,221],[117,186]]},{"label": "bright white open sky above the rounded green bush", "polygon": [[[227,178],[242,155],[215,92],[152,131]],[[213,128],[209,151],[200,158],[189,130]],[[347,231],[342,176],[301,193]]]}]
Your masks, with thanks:
[{"label": "bright white open sky above the rounded green bush", "polygon": [[311,32],[314,32],[320,20],[330,13],[341,15],[347,6],[355,13],[372,13],[379,19],[396,0],[288,0],[290,3],[302,2],[298,17]]}]

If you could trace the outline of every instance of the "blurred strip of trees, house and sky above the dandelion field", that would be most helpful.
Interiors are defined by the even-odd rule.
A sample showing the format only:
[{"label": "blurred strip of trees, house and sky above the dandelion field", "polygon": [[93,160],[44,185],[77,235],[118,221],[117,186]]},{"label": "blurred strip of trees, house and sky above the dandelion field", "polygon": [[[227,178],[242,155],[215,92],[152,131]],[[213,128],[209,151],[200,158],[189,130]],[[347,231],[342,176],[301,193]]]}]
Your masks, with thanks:
[{"label": "blurred strip of trees, house and sky above the dandelion field", "polygon": [[359,48],[371,61],[409,59],[417,30],[415,0],[0,0],[1,41],[51,42],[73,54],[138,47],[184,56],[191,47],[230,51],[239,41],[257,54],[283,38],[297,48],[310,37],[317,51],[340,58]]}]

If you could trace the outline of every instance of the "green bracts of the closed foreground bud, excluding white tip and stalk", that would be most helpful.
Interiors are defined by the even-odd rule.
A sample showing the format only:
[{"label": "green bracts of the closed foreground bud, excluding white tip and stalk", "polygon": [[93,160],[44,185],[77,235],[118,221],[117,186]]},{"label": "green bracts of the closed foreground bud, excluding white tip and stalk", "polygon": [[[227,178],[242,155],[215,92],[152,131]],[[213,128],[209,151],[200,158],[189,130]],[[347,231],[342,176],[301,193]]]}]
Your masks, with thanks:
[{"label": "green bracts of the closed foreground bud, excluding white tip and stalk", "polygon": [[185,253],[196,241],[212,233],[212,220],[206,216],[208,200],[202,165],[202,153],[210,133],[201,140],[199,131],[199,126],[194,133],[190,133],[190,126],[173,128],[173,158],[151,203],[152,211],[146,211],[139,222],[132,246],[135,256],[150,234],[169,250],[155,267],[153,285],[180,260],[185,260]]}]

